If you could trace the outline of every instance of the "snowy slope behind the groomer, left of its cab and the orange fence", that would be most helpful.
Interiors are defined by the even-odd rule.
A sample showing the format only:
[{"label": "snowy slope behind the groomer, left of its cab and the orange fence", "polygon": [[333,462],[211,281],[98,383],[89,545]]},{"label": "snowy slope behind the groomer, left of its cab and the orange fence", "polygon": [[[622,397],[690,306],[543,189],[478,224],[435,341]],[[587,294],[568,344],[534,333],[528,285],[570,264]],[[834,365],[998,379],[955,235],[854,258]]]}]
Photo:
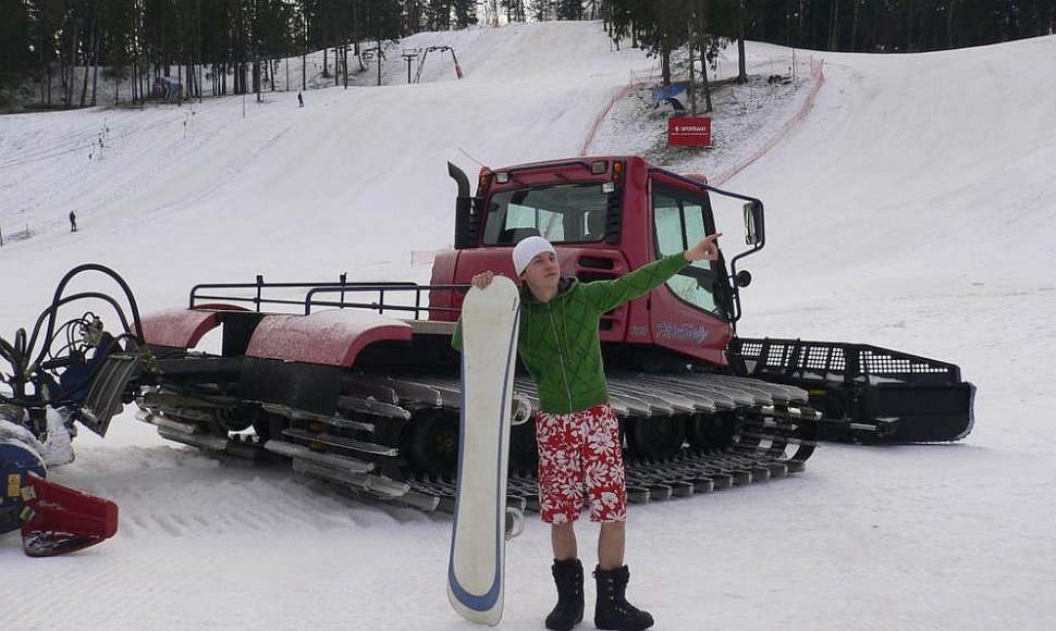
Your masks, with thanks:
[{"label": "snowy slope behind the groomer, left of its cab and the orange fence", "polygon": [[[303,110],[295,95],[266,92],[260,104],[237,97],[193,110],[0,120],[0,230],[45,233],[5,251],[26,251],[35,270],[15,289],[34,293],[37,271],[58,279],[86,259],[128,274],[148,307],[155,292],[177,297],[158,289],[176,267],[199,280],[405,274],[413,249],[451,243],[445,162],[477,170],[459,149],[489,164],[574,154],[611,94],[652,63],[639,51],[611,53],[598,25],[471,34],[458,47],[466,78],[456,83],[312,91]],[[102,129],[108,147],[88,159]],[[86,231],[74,243],[71,209]],[[365,228],[369,244],[357,238]],[[230,238],[246,231],[255,237]]]}]

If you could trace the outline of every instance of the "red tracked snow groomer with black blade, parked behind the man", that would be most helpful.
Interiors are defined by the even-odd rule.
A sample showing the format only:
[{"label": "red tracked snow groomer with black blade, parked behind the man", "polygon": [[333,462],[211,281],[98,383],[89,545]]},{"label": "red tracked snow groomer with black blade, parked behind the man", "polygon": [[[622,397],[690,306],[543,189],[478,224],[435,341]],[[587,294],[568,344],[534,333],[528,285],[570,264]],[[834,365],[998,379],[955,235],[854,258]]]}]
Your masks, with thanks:
[{"label": "red tracked snow groomer with black blade, parked behind the man", "polygon": [[[747,247],[685,268],[601,322],[633,500],[802,471],[819,437],[911,443],[971,431],[974,388],[955,366],[735,335],[751,279],[737,265],[765,243],[758,199],[637,157],[483,169],[476,195],[449,170],[458,185],[454,250],[437,257],[430,285],[344,276],[197,285],[187,308],[138,329],[155,358],[134,382],[140,418],[174,441],[288,459],[368,496],[450,508],[461,404],[450,342],[471,276],[513,276],[514,245],[541,235],[563,275],[617,277],[714,232],[712,196],[721,196],[742,207]],[[218,349],[197,350],[218,327]],[[517,413],[531,413],[531,382],[519,378],[516,388]],[[533,424],[516,425],[508,495],[529,507],[535,458]]]}]

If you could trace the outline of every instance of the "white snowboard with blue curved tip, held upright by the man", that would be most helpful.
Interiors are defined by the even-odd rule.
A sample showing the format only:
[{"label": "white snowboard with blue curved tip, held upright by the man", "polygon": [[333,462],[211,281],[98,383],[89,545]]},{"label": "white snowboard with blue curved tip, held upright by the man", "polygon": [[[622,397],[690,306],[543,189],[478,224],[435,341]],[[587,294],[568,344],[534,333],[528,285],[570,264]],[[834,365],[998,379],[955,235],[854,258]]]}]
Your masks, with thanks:
[{"label": "white snowboard with blue curved tip, held upright by the man", "polygon": [[447,599],[482,624],[502,619],[506,477],[520,299],[495,276],[462,308],[462,424]]}]

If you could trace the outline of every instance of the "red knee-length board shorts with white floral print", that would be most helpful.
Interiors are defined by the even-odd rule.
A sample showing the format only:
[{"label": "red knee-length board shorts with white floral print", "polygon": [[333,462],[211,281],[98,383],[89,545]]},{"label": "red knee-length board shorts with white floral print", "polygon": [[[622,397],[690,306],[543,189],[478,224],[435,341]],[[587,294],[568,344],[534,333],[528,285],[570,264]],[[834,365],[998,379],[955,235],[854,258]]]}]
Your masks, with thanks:
[{"label": "red knee-length board shorts with white floral print", "polygon": [[539,446],[539,506],[545,523],[579,519],[585,500],[590,520],[627,519],[619,422],[612,405],[569,415],[536,415]]}]

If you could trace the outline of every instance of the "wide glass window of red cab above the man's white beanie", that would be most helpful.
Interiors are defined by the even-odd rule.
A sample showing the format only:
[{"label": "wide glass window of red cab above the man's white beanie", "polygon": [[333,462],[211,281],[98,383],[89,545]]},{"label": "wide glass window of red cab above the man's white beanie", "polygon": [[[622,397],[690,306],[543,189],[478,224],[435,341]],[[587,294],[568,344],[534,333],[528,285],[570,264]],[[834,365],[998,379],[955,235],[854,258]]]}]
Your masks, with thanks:
[{"label": "wide glass window of red cab above the man's white beanie", "polygon": [[483,243],[508,246],[536,235],[554,244],[600,242],[605,236],[609,197],[601,183],[496,193],[488,201]]}]

